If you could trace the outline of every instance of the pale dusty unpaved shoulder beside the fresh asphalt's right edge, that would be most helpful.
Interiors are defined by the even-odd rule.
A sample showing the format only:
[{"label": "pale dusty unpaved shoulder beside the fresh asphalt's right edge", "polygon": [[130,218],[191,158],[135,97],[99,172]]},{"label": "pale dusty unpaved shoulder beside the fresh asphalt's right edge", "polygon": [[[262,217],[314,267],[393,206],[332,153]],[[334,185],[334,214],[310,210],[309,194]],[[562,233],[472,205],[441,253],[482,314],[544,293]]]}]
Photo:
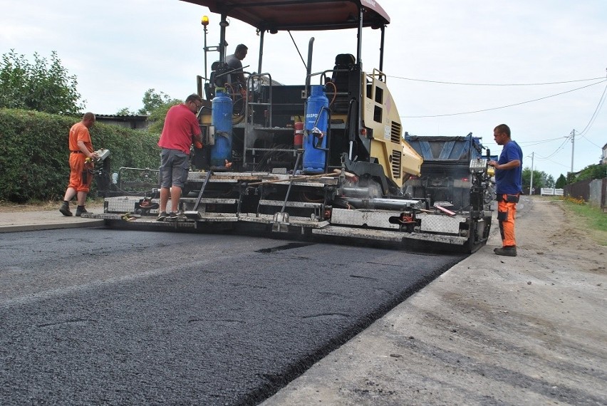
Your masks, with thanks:
[{"label": "pale dusty unpaved shoulder beside the fresh asphalt's right edge", "polygon": [[[607,247],[524,197],[519,256],[489,244],[263,405],[606,405]],[[403,271],[406,271],[403,256]]]}]

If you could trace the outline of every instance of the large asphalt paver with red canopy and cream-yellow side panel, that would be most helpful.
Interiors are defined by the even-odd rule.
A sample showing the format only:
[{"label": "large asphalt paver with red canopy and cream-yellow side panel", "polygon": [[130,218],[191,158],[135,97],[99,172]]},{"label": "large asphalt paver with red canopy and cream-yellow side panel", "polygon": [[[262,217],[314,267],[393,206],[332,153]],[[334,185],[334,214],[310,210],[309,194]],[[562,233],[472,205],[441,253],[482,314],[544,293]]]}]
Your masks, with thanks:
[{"label": "large asphalt paver with red canopy and cream-yellow side panel", "polygon": [[[112,181],[105,176],[104,212],[88,217],[128,229],[226,231],[404,249],[472,252],[487,241],[488,157],[466,157],[466,204],[458,207],[447,207],[437,189],[420,192],[415,183],[422,179],[424,158],[405,140],[383,71],[390,17],[378,1],[188,2],[219,16],[220,41],[207,46],[203,18],[205,66],[197,92],[204,98],[198,113],[204,145],[192,145],[180,199],[185,219],[155,221],[158,171],[136,168],[120,168]],[[256,70],[245,71],[246,83],[233,83],[234,70],[226,63],[229,19],[259,35]],[[365,70],[363,33],[370,29],[380,32],[380,55]],[[330,64],[326,53],[316,61],[311,36],[299,83],[279,83],[280,72],[262,65],[264,46],[271,46],[267,34],[331,30],[349,30],[356,51],[338,51]],[[217,59],[209,73],[208,58]],[[134,185],[150,189],[138,194]]]}]

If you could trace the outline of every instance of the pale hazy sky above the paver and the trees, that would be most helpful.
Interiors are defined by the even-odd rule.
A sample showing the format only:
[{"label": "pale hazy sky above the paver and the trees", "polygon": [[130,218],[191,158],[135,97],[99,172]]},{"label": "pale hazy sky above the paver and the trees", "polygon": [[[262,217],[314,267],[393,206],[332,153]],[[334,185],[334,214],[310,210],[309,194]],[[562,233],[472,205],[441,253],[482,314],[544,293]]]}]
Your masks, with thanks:
[{"label": "pale hazy sky above the paver and the trees", "polygon": [[[493,127],[507,123],[523,148],[524,166],[531,167],[533,153],[534,170],[555,179],[571,170],[567,137],[576,130],[574,171],[598,162],[607,142],[607,108],[600,104],[607,82],[598,83],[607,77],[607,1],[378,2],[391,17],[384,71],[403,130],[472,132],[498,153]],[[204,75],[199,21],[209,13],[194,4],[0,0],[0,9],[0,53],[12,48],[48,58],[57,51],[63,66],[78,77],[86,110],[94,113],[137,110],[148,88],[185,98],[196,90],[196,76]],[[219,40],[219,16],[209,17],[210,46]],[[311,35],[293,33],[302,53]],[[332,68],[337,53],[356,53],[351,32],[313,36],[313,71]],[[231,21],[227,42],[229,53],[237,43],[247,43],[244,64],[257,70],[259,41],[253,29]],[[377,32],[365,33],[364,42],[363,68],[371,70],[377,66]],[[262,71],[281,83],[303,82],[304,66],[288,34],[266,35]],[[598,79],[586,80],[591,78]],[[539,85],[555,82],[569,83]],[[582,86],[588,87],[574,90]],[[536,99],[541,100],[531,102]],[[503,108],[507,105],[512,106]],[[486,111],[469,113],[478,110]]]}]

